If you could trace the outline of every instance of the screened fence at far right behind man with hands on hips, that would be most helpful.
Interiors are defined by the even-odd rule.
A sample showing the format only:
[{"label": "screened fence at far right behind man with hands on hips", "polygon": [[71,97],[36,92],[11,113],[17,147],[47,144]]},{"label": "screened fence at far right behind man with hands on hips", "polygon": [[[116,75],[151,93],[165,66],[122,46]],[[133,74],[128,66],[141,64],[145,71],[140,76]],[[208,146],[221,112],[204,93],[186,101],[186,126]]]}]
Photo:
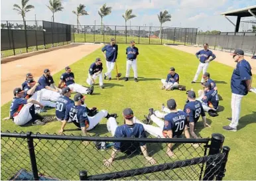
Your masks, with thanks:
[{"label": "screened fence at far right behind man with hands on hips", "polygon": [[256,32],[222,32],[196,36],[198,46],[202,46],[205,42],[214,50],[231,52],[239,48],[248,55],[255,55],[256,52]]}]

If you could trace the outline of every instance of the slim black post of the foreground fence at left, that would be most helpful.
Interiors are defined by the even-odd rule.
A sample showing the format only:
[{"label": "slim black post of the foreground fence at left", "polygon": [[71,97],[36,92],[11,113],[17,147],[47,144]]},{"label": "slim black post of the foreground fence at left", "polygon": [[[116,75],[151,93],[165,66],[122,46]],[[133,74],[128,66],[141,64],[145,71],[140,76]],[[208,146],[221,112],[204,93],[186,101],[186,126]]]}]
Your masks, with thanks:
[{"label": "slim black post of the foreground fence at left", "polygon": [[37,165],[36,165],[36,154],[34,153],[34,142],[33,142],[33,139],[31,138],[31,134],[32,134],[32,132],[27,132],[27,143],[29,146],[29,156],[31,158],[31,167],[32,167],[34,180],[39,180],[38,170],[37,170]]}]

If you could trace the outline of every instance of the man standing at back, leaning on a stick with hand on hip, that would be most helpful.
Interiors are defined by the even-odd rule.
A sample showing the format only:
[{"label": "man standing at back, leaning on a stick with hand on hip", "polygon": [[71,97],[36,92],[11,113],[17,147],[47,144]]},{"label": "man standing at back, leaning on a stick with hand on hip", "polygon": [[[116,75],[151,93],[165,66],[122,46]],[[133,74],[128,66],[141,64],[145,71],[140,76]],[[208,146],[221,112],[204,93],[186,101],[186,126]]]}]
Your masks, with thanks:
[{"label": "man standing at back, leaning on a stick with hand on hip", "polygon": [[111,71],[114,69],[118,54],[118,45],[115,44],[115,38],[111,38],[110,44],[105,45],[101,51],[105,56],[107,66],[107,72],[104,74],[104,79],[108,76],[109,80],[111,80]]}]

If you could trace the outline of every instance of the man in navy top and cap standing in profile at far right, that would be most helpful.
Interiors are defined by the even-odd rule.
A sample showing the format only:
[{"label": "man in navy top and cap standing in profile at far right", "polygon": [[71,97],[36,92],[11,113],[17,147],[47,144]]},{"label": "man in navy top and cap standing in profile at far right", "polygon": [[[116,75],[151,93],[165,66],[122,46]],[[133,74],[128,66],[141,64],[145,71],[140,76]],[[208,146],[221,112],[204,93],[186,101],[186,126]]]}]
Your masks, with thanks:
[{"label": "man in navy top and cap standing in profile at far right", "polygon": [[252,80],[251,66],[249,62],[243,58],[243,50],[235,50],[232,55],[235,62],[237,62],[237,66],[233,70],[233,74],[231,76],[232,118],[227,118],[231,123],[228,126],[223,127],[223,129],[227,131],[237,131],[241,111],[241,100],[251,89]]}]

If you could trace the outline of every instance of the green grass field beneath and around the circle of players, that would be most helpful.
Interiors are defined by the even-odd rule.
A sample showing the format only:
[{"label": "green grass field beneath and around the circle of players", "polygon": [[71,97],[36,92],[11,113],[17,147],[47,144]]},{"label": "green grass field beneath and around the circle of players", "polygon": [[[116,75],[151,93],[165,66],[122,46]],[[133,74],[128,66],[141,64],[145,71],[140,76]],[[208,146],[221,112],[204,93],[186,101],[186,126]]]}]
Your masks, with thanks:
[{"label": "green grass field beneath and around the circle of players", "polygon": [[[119,44],[117,64],[119,72],[121,72],[123,76],[125,75],[126,47],[127,44]],[[176,68],[176,72],[180,74],[180,84],[186,86],[187,89],[190,90],[193,88],[197,91],[202,88],[200,84],[190,84],[198,66],[198,60],[194,55],[161,45],[137,44],[137,47],[140,52],[138,57],[138,83],[134,82],[132,78],[128,82],[124,82],[123,79],[119,81],[116,79],[111,81],[105,80],[104,90],[100,90],[98,86],[96,86],[95,94],[86,96],[88,107],[95,106],[98,109],[106,109],[110,113],[117,113],[119,115],[119,117],[117,117],[119,125],[123,123],[121,113],[125,107],[131,107],[136,117],[139,119],[143,119],[143,115],[148,113],[150,107],[160,109],[160,105],[166,103],[166,100],[170,98],[176,99],[178,109],[183,109],[184,102],[186,101],[185,91],[160,90],[160,79],[166,78],[168,69],[171,66]],[[100,49],[70,65],[72,72],[76,75],[76,83],[87,86],[87,69],[97,56],[103,58]],[[103,72],[105,72],[105,62],[103,62],[103,68]],[[220,101],[220,109],[222,109],[222,111],[219,113],[220,115],[218,117],[209,117],[209,115],[207,115],[208,123],[210,123],[212,128],[204,129],[202,127],[202,121],[200,121],[196,125],[196,131],[200,133],[202,137],[211,137],[212,133],[221,133],[225,136],[224,145],[229,146],[231,151],[224,180],[256,180],[256,158],[254,156],[254,151],[256,150],[256,137],[254,135],[254,131],[256,130],[255,94],[249,93],[247,96],[243,97],[241,119],[238,127],[239,130],[237,132],[227,132],[222,129],[224,125],[229,124],[226,117],[231,116],[231,90],[229,82],[232,71],[233,68],[225,66],[224,64],[218,62],[211,63],[208,72],[210,72],[211,78],[216,80],[218,92],[222,97],[222,100]],[[62,72],[64,72],[64,70]],[[62,72],[58,72],[58,74],[54,75],[54,80],[56,82],[58,82]],[[112,77],[114,75],[115,71],[112,72]],[[130,74],[130,77],[132,76],[133,72]],[[255,79],[256,76],[253,76],[253,80]],[[256,87],[255,82],[253,83],[253,87]],[[9,106],[10,103],[7,103],[1,107],[1,119],[8,116]],[[54,109],[48,110],[45,114],[54,115]],[[92,136],[96,133],[100,136],[111,136],[110,133],[107,133],[107,127],[105,125],[106,121],[106,119],[103,119],[101,123],[97,125],[96,129],[90,131],[90,134]],[[10,120],[1,121],[1,131],[32,131],[33,133],[40,132],[41,134],[53,134],[57,133],[59,129],[60,122],[58,121],[43,126],[32,127],[19,127]],[[76,127],[72,123],[68,124],[66,129],[68,129],[68,131],[64,132],[66,135],[80,135],[80,131],[74,130]],[[2,139],[2,141],[3,140],[4,139]],[[28,155],[28,151],[26,141],[23,139],[20,140],[22,140],[23,144],[7,141],[5,145],[1,145],[1,169],[3,169],[3,165],[9,165],[8,162],[16,162],[16,164],[18,162],[21,163],[23,168],[31,169],[29,163],[21,160],[22,156]],[[53,143],[53,141],[36,141],[38,169],[40,172],[50,176],[61,178],[64,174],[67,179],[78,180],[79,169],[87,169],[89,174],[99,174],[113,170],[123,170],[123,168],[140,168],[145,165],[143,156],[133,156],[129,159],[115,160],[111,168],[105,168],[103,167],[102,160],[104,157],[108,158],[109,156],[107,155],[110,154],[111,151],[97,152],[92,148],[92,145],[84,148],[83,145],[79,144],[79,141],[76,141],[73,144],[71,144],[70,141],[58,141],[54,143],[53,146],[50,145],[50,143]],[[42,147],[42,144],[46,144],[46,147]],[[171,162],[172,160],[170,158],[166,158],[166,154],[164,153],[165,149],[162,150],[162,147],[164,146],[160,145],[160,147],[157,147],[157,145],[153,144],[149,147],[149,151],[152,152],[151,154],[153,154],[157,160],[159,160],[159,163]],[[188,153],[189,150],[190,149],[186,149],[184,145],[182,145],[182,147],[174,149],[174,152],[180,155],[178,156],[179,159],[182,159],[184,156],[182,156],[180,152],[184,151]],[[20,152],[19,155],[17,155],[17,151]],[[13,158],[13,154],[16,155],[14,156],[15,158],[9,160],[8,158]],[[78,159],[79,156],[83,157],[82,160]],[[118,154],[118,156],[122,156],[122,154]],[[190,156],[198,156],[198,154],[193,152]],[[200,156],[202,156],[202,154]],[[29,162],[29,157],[27,156],[26,158]],[[177,158],[173,159],[176,160]],[[66,165],[68,165],[68,167]],[[2,180],[7,180],[11,176],[8,174],[15,173],[15,168],[9,166],[8,170],[1,171]],[[171,174],[171,172],[168,172],[168,174]],[[157,177],[152,176],[150,178],[155,180],[158,180],[159,178],[162,178],[162,180],[168,179],[162,172],[159,172],[157,175]],[[175,178],[176,177],[174,177],[174,179]],[[190,178],[184,178],[184,180],[190,180]]]}]

